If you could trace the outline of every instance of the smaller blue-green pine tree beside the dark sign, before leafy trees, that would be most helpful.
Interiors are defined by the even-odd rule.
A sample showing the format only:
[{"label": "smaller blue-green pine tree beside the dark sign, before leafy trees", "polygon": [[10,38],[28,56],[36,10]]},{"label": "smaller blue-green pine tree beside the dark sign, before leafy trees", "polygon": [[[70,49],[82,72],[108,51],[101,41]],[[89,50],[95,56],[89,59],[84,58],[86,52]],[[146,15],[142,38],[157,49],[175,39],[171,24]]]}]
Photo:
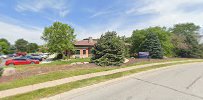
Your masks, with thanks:
[{"label": "smaller blue-green pine tree beside the dark sign, before leafy trees", "polygon": [[156,34],[149,33],[146,40],[140,46],[143,52],[149,52],[151,58],[163,58],[163,49]]}]

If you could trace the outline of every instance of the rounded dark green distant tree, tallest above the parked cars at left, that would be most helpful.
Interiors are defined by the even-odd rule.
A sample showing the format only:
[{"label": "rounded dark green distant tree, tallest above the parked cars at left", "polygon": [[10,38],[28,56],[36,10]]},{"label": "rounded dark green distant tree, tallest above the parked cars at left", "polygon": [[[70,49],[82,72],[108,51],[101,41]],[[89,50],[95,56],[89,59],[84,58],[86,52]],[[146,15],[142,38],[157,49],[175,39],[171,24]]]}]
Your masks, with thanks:
[{"label": "rounded dark green distant tree, tallest above the parked cars at left", "polygon": [[16,47],[17,51],[20,51],[20,52],[26,52],[27,45],[28,45],[28,41],[26,41],[24,39],[18,39],[15,42],[15,47]]}]

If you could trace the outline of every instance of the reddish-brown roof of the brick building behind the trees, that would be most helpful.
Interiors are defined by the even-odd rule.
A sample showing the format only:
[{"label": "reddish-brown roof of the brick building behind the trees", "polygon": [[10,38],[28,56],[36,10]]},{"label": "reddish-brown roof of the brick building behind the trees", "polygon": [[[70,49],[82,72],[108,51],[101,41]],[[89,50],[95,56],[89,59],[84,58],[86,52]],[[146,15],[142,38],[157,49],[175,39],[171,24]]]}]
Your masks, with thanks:
[{"label": "reddish-brown roof of the brick building behind the trees", "polygon": [[89,42],[89,40],[81,40],[75,43],[76,46],[94,46],[96,41]]}]

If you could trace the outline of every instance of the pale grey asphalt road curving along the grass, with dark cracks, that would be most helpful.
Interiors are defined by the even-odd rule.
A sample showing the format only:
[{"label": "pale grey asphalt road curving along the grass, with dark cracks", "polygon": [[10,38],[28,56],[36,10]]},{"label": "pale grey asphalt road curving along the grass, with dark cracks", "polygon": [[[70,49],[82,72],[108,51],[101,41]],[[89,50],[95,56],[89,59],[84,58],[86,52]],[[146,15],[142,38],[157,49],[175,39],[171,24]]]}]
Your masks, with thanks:
[{"label": "pale grey asphalt road curving along the grass, with dark cracks", "polygon": [[203,63],[135,74],[119,81],[57,96],[60,96],[60,100],[203,100]]}]

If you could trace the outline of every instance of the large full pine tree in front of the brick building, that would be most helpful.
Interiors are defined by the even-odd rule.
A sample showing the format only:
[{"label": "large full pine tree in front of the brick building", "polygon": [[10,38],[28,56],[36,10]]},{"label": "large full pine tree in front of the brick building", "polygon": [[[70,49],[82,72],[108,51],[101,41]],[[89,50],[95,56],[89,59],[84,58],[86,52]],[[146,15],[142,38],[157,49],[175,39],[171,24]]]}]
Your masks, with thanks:
[{"label": "large full pine tree in front of the brick building", "polygon": [[106,32],[93,49],[92,61],[99,66],[120,66],[124,62],[124,42],[116,32]]}]

